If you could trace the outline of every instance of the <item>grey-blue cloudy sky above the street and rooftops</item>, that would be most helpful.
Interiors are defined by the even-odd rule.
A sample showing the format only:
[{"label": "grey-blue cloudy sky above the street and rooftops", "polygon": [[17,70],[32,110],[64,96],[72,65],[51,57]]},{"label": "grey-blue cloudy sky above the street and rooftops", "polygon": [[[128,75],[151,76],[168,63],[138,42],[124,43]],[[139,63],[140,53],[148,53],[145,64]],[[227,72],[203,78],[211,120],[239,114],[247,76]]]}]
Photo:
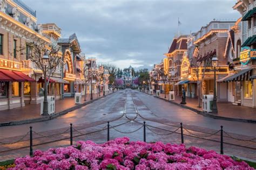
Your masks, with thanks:
[{"label": "grey-blue cloudy sky above the street and rooftops", "polygon": [[120,68],[152,67],[180,31],[200,30],[213,18],[236,20],[236,0],[23,0],[38,23],[56,23],[62,37],[76,33],[86,57]]}]

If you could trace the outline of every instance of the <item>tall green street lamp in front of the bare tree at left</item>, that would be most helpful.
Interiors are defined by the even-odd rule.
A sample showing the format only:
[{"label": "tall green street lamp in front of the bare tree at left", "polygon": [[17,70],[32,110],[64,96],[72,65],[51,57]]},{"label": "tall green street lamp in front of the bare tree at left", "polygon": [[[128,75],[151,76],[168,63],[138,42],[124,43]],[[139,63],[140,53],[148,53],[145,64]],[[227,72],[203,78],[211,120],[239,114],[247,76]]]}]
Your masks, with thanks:
[{"label": "tall green street lamp in front of the bare tree at left", "polygon": [[47,70],[46,70],[46,67],[48,66],[49,64],[49,56],[47,55],[47,53],[45,52],[44,55],[43,55],[43,65],[44,65],[44,104],[43,104],[43,116],[47,116],[48,115],[48,101],[47,101],[47,93],[48,93],[48,89],[47,89],[47,80],[46,80],[46,77],[47,77]]}]

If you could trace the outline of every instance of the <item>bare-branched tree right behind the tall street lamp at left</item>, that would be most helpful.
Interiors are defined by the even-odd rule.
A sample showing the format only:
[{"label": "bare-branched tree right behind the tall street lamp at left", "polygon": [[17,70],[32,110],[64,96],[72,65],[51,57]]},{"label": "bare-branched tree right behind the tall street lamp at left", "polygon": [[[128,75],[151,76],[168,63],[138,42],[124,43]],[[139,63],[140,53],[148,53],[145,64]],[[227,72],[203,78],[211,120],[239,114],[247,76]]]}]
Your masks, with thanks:
[{"label": "bare-branched tree right behind the tall street lamp at left", "polygon": [[[35,41],[27,42],[30,50],[28,52],[28,58],[35,63],[37,69],[42,70],[44,75],[44,109],[43,115],[48,115],[48,86],[50,77],[55,73],[56,69],[63,65],[62,56],[59,55],[60,47],[47,46],[45,44],[38,44]],[[25,50],[21,49],[21,50]]]}]

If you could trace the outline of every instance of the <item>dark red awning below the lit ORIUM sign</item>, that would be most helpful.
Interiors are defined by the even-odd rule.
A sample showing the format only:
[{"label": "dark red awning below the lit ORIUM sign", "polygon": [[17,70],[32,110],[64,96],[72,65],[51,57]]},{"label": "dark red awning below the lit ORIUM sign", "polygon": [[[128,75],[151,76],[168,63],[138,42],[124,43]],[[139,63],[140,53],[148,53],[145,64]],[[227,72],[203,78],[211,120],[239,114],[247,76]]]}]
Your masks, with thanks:
[{"label": "dark red awning below the lit ORIUM sign", "polygon": [[35,81],[22,72],[15,72],[10,70],[0,69],[0,73],[1,73],[0,81],[17,81],[17,82]]}]

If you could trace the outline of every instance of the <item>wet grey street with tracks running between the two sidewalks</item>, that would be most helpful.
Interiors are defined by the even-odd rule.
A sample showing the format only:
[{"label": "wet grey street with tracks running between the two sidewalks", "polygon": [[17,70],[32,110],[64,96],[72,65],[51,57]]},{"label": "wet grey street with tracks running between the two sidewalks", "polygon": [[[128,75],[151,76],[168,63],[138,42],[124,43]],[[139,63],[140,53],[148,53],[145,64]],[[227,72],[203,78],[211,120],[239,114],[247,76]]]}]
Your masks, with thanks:
[{"label": "wet grey street with tracks running between the two sidewalks", "polygon": [[[185,145],[200,146],[217,152],[220,151],[220,133],[217,131],[223,125],[226,132],[224,133],[224,153],[256,160],[255,140],[232,139],[234,137],[250,140],[255,137],[256,124],[204,117],[191,110],[131,89],[120,90],[51,121],[3,126],[0,128],[0,141],[17,140],[29,131],[29,126],[32,126],[33,131],[36,132],[33,136],[34,150],[65,146],[70,143],[68,130],[72,123],[74,141],[90,139],[96,143],[103,143],[107,140],[108,121],[110,122],[110,139],[127,136],[131,140],[143,140],[143,122],[145,121],[146,141],[161,140],[164,143],[181,143],[179,126],[182,122],[185,128]],[[97,132],[84,135],[94,131]],[[215,132],[217,133],[213,134]],[[51,134],[59,135],[49,137]],[[0,160],[10,158],[11,154],[16,156],[28,154],[29,148],[26,147],[29,144],[28,138],[25,137],[16,144],[1,145]]]}]

